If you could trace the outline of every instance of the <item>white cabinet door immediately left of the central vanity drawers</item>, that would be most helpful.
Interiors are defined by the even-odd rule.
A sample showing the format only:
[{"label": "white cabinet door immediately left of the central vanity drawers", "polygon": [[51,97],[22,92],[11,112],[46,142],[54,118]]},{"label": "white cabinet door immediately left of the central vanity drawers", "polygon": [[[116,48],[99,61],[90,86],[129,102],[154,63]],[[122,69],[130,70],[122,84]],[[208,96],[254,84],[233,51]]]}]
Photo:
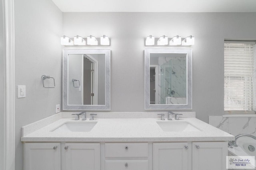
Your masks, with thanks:
[{"label": "white cabinet door immediately left of the central vanity drawers", "polygon": [[66,143],[64,170],[100,170],[99,143]]}]

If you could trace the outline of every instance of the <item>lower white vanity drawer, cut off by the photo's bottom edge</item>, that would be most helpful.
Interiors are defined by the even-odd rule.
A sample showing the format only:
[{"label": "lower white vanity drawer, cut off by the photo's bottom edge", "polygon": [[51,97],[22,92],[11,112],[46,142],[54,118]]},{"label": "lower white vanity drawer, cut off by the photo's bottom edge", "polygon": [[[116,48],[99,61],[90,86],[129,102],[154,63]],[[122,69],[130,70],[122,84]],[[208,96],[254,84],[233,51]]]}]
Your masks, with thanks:
[{"label": "lower white vanity drawer, cut off by the photo's bottom edge", "polygon": [[106,160],[105,170],[148,170],[148,160]]}]

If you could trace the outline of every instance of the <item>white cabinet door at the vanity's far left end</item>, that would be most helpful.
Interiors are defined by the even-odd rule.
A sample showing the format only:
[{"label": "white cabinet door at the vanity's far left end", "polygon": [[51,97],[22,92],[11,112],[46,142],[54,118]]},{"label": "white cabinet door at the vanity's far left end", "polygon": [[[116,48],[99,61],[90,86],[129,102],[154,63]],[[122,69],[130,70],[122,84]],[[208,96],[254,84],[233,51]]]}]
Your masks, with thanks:
[{"label": "white cabinet door at the vanity's far left end", "polygon": [[24,170],[61,170],[60,143],[25,143]]}]

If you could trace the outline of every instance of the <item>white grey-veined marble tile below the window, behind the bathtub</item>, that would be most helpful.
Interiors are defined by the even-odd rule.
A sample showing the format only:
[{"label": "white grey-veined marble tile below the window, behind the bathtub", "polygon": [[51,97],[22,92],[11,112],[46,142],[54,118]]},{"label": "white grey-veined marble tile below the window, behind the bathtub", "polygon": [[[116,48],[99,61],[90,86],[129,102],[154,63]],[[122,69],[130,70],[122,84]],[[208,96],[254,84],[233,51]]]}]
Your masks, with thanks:
[{"label": "white grey-veined marble tile below the window, behind the bathtub", "polygon": [[234,136],[238,134],[252,134],[256,136],[255,115],[209,116],[209,124]]}]

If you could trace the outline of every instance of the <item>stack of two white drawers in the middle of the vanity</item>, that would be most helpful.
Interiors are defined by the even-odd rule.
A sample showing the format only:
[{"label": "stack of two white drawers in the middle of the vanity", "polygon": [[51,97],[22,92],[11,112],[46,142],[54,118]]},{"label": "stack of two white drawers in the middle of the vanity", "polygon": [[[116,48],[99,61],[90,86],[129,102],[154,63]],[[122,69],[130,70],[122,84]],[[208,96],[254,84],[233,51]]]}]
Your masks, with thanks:
[{"label": "stack of two white drawers in the middle of the vanity", "polygon": [[148,143],[105,143],[105,170],[148,170]]}]

